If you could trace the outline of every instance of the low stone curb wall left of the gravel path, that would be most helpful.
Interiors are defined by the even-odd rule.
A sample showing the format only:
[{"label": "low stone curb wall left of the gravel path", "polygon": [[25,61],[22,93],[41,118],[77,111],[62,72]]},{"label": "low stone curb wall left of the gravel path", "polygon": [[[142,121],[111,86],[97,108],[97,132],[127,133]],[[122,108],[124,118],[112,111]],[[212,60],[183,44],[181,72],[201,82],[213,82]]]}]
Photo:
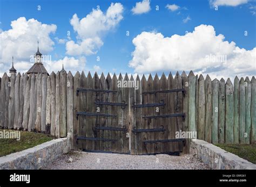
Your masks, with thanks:
[{"label": "low stone curb wall left of the gravel path", "polygon": [[70,138],[51,140],[21,152],[0,157],[0,169],[42,169],[70,150]]}]

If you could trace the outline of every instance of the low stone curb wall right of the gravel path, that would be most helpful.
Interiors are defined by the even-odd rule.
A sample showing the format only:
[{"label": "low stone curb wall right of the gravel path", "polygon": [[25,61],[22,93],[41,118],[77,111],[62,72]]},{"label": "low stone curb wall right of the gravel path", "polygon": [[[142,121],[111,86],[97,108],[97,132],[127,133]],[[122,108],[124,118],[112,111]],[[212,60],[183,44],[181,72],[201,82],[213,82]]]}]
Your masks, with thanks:
[{"label": "low stone curb wall right of the gravel path", "polygon": [[212,169],[256,169],[256,164],[203,140],[191,140],[190,153]]}]

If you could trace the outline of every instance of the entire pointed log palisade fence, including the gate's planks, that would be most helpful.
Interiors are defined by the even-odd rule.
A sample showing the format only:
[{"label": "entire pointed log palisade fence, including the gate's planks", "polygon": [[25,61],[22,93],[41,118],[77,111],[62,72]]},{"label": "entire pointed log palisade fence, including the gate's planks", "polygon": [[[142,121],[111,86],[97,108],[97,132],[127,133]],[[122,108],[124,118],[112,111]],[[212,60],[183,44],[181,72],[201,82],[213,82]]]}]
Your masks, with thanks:
[{"label": "entire pointed log palisade fence, including the gate's planks", "polygon": [[[118,88],[118,80],[138,81],[139,89]],[[97,73],[75,76],[66,71],[57,74],[17,74],[0,78],[0,128],[35,131],[51,134],[57,138],[71,136],[74,148],[104,150],[131,154],[150,154],[180,150],[182,142],[145,143],[146,140],[174,139],[177,131],[197,131],[197,138],[212,143],[255,143],[256,142],[256,81],[253,76],[230,78],[225,82],[211,80],[210,76],[195,76],[185,71],[174,77],[170,73],[142,79],[127,74],[106,77]],[[77,88],[116,90],[117,92],[81,92]],[[183,92],[156,92],[157,90],[184,89]],[[138,107],[133,105],[160,103],[165,107]],[[95,102],[125,101],[124,109],[116,106],[99,105],[100,113],[111,117],[79,116],[77,112],[96,112]],[[144,118],[171,113],[185,113],[184,118]],[[117,116],[114,118],[113,116]],[[90,125],[89,125],[90,124]],[[173,124],[173,125],[170,125]],[[97,130],[100,126],[125,128],[128,135],[119,131]],[[136,128],[159,129],[165,133],[142,132],[133,135]],[[167,132],[167,133],[166,133]],[[77,141],[86,135],[111,141]],[[78,143],[78,144],[77,144]],[[186,145],[189,141],[186,140]],[[185,152],[188,151],[188,146]]]}]

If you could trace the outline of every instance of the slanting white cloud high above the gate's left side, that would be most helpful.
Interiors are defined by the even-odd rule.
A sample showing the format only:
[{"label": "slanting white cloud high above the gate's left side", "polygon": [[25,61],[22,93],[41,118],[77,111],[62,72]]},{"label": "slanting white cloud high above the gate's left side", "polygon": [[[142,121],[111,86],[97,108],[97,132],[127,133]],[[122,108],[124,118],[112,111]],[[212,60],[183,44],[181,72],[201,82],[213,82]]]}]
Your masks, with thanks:
[{"label": "slanting white cloud high above the gate's left side", "polygon": [[66,42],[66,54],[96,54],[103,45],[100,37],[115,28],[123,19],[123,9],[122,4],[111,3],[106,13],[100,9],[93,9],[82,19],[79,19],[76,14],[73,15],[70,24],[73,26],[73,30],[77,32],[77,42],[73,40]]}]

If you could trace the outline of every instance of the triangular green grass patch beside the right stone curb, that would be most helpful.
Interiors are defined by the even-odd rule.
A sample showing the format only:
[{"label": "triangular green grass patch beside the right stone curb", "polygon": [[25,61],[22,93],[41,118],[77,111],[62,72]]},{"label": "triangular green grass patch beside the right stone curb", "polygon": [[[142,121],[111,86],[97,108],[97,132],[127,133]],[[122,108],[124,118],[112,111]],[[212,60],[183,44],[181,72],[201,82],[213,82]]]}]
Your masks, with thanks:
[{"label": "triangular green grass patch beside the right stone curb", "polygon": [[256,145],[248,144],[220,144],[216,143],[215,146],[226,150],[227,152],[238,155],[239,157],[256,164]]}]

